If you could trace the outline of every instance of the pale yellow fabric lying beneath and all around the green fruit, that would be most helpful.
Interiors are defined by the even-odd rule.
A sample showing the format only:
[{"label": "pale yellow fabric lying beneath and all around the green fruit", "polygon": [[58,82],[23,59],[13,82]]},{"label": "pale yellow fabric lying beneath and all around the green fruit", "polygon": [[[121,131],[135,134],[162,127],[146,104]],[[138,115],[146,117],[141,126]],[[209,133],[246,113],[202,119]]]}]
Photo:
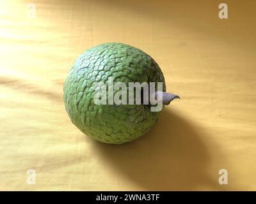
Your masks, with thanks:
[{"label": "pale yellow fabric lying beneath and all around the green fruit", "polygon": [[[225,1],[228,19],[220,3],[1,1],[0,190],[255,191],[256,2]],[[181,98],[119,146],[84,136],[62,99],[76,57],[109,41],[150,54]]]}]

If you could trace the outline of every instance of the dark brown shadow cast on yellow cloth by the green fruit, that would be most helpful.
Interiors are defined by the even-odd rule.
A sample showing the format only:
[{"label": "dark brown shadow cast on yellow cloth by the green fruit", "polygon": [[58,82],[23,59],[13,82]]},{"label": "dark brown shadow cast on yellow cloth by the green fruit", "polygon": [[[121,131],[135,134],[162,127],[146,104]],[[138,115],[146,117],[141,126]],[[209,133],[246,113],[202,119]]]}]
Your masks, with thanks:
[{"label": "dark brown shadow cast on yellow cloth by the green fruit", "polygon": [[188,121],[166,108],[156,126],[140,139],[93,145],[113,171],[145,190],[189,191],[202,186],[217,190],[218,179],[212,181],[207,175],[211,155],[201,138]]}]

